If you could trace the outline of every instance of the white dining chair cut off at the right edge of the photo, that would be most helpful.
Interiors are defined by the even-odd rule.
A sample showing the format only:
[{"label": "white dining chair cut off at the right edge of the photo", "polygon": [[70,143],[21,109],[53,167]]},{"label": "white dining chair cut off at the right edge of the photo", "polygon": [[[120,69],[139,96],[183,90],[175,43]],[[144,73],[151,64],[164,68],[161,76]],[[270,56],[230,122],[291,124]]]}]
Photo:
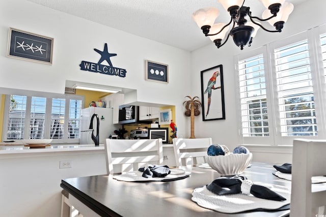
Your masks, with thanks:
[{"label": "white dining chair cut off at the right edge of the photo", "polygon": [[326,175],[326,140],[293,140],[290,216],[326,216],[326,184],[312,176]]}]

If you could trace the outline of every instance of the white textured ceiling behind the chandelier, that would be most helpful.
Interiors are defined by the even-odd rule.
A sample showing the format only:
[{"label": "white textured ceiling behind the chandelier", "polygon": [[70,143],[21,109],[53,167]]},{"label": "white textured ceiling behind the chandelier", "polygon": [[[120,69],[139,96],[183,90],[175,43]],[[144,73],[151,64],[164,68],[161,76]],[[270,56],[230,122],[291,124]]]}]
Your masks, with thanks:
[{"label": "white textured ceiling behind the chandelier", "polygon": [[[228,22],[228,12],[217,0],[27,0],[77,17],[107,25],[133,35],[193,51],[209,43],[192,19],[196,10],[220,10],[216,22]],[[287,0],[295,6],[308,0]],[[264,10],[258,0],[246,0],[253,16]],[[268,26],[269,28],[271,26]]]}]

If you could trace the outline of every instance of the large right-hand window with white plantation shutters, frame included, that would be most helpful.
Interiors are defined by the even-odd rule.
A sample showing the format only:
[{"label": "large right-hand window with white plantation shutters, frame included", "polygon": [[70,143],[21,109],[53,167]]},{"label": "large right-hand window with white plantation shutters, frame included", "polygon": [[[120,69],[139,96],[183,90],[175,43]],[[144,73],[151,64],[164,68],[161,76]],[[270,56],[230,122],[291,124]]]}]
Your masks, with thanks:
[{"label": "large right-hand window with white plantation shutters, frame included", "polygon": [[326,24],[234,59],[241,144],[326,139]]}]

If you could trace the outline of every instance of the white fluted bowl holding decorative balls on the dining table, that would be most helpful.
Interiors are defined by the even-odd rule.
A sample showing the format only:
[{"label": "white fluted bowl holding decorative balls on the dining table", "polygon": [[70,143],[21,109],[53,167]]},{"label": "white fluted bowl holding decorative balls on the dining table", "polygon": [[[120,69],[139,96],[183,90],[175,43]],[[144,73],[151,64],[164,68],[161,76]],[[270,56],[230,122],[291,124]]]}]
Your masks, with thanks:
[{"label": "white fluted bowl holding decorative balls on the dining table", "polygon": [[222,176],[239,175],[253,159],[252,153],[230,153],[228,155],[205,156],[208,165]]}]

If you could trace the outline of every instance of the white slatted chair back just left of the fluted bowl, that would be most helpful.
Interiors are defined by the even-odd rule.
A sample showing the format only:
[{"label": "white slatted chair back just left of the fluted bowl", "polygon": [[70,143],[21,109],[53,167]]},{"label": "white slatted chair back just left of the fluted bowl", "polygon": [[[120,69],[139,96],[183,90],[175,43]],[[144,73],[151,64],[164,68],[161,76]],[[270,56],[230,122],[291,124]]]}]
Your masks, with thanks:
[{"label": "white slatted chair back just left of the fluted bowl", "polygon": [[[173,138],[176,166],[196,165],[198,161],[206,162],[207,148],[212,144],[211,138],[183,139]],[[200,159],[199,159],[200,158]]]}]

